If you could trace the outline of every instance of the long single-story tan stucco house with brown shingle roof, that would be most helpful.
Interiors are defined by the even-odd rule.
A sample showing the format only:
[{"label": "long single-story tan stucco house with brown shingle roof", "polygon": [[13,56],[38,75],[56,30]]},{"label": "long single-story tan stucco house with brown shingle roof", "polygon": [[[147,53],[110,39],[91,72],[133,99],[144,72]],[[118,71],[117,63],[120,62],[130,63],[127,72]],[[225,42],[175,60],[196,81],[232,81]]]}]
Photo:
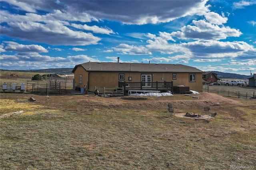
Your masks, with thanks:
[{"label": "long single-story tan stucco house with brown shingle roof", "polygon": [[199,69],[182,64],[87,62],[72,70],[74,88],[94,91],[94,87],[115,88],[120,82],[142,82],[142,88],[152,87],[151,82],[173,82],[202,92],[202,73]]}]

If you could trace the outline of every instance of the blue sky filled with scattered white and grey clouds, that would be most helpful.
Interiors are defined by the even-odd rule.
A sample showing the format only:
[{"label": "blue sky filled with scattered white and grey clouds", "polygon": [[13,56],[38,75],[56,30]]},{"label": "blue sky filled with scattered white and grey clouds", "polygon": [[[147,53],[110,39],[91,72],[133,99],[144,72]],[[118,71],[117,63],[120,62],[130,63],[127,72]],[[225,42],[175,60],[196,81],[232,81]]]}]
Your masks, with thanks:
[{"label": "blue sky filled with scattered white and grey clouds", "polygon": [[176,63],[256,73],[255,0],[1,0],[0,68]]}]

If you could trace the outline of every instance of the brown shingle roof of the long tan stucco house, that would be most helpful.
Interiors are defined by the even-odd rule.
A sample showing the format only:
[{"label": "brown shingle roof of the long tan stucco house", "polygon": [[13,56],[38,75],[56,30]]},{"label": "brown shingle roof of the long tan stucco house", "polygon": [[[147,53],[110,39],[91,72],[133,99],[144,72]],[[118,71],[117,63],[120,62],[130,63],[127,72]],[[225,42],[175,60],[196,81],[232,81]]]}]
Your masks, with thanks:
[{"label": "brown shingle roof of the long tan stucco house", "polygon": [[119,62],[87,62],[76,65],[86,71],[115,71],[115,72],[173,72],[173,73],[204,73],[200,69],[182,64],[154,64],[154,63],[119,63]]}]

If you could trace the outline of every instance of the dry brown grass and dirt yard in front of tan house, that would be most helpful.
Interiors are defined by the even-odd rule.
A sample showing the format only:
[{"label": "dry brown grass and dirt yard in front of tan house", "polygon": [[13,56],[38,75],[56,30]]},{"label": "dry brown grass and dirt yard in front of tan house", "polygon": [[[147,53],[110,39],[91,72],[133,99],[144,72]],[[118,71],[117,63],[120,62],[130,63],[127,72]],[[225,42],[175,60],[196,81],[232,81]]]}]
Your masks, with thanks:
[{"label": "dry brown grass and dirt yard in front of tan house", "polygon": [[[256,100],[200,95],[97,97],[1,93],[0,169],[256,168]],[[199,96],[194,99],[192,96]],[[31,102],[30,97],[36,101]],[[218,112],[210,120],[169,117]]]}]

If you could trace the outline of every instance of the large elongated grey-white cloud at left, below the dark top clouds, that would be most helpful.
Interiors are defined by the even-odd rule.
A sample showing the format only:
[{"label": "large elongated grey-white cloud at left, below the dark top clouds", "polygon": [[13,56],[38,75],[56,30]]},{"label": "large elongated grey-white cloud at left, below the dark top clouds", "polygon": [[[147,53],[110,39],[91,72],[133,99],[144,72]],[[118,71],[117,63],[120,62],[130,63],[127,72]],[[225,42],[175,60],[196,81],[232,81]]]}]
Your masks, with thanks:
[{"label": "large elongated grey-white cloud at left, below the dark top clouds", "polygon": [[1,26],[2,34],[52,45],[90,45],[97,44],[101,40],[101,38],[91,33],[70,30],[57,21],[48,21],[47,24],[38,22],[10,22],[9,26],[11,29]]}]

